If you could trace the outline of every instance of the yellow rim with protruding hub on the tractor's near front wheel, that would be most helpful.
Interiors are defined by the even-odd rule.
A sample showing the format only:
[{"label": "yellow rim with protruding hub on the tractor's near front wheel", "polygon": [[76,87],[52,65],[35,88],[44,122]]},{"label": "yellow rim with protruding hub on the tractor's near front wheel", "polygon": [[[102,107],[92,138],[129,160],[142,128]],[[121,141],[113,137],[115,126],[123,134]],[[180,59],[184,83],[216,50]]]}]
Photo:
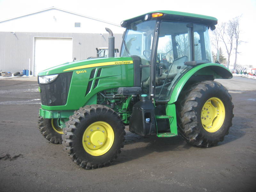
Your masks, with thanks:
[{"label": "yellow rim with protruding hub on the tractor's near front wheel", "polygon": [[114,131],[108,123],[97,121],[84,131],[82,143],[84,150],[90,155],[103,155],[114,143]]}]

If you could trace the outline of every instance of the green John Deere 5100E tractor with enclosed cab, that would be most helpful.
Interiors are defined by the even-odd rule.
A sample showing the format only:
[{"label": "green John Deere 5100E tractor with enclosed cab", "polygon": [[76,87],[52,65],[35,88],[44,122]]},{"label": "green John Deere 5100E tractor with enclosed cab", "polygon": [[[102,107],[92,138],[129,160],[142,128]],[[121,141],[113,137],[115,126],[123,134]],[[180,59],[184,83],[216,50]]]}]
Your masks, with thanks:
[{"label": "green John Deere 5100E tractor with enclosed cab", "polygon": [[39,129],[85,169],[108,166],[124,147],[124,125],[141,136],[174,137],[212,147],[232,125],[232,78],[212,62],[214,17],[149,12],[124,20],[120,57],[106,28],[108,58],[65,63],[39,73]]}]

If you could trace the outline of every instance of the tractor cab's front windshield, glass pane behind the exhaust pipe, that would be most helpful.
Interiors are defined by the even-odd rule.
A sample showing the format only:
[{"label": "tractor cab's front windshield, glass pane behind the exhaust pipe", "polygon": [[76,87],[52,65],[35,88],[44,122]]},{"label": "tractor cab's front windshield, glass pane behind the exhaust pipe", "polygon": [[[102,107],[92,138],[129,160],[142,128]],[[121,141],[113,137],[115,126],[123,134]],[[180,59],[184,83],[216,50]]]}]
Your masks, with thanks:
[{"label": "tractor cab's front windshield, glass pane behind the exhaust pipe", "polygon": [[124,37],[121,57],[137,55],[141,59],[150,61],[155,26],[156,20],[144,22],[139,20],[129,24]]}]

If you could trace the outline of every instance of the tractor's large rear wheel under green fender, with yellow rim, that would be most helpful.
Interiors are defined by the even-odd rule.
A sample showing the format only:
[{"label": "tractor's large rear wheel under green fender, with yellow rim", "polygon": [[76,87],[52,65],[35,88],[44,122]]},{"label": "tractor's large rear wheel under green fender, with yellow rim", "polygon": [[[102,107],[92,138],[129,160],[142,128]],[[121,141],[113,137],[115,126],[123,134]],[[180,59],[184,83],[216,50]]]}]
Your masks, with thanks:
[{"label": "tractor's large rear wheel under green fender, with yellow rim", "polygon": [[192,145],[211,147],[223,141],[232,126],[232,98],[218,82],[195,84],[179,98],[180,134]]}]

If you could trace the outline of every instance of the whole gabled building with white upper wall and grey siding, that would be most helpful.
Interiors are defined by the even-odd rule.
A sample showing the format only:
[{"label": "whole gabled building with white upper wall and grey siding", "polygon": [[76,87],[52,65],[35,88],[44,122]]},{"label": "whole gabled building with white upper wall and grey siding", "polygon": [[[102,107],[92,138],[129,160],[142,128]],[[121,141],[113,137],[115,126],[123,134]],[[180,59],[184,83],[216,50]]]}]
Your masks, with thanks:
[{"label": "whole gabled building with white upper wall and grey siding", "polygon": [[55,7],[0,21],[0,71],[39,71],[73,60],[96,56],[108,46],[110,28],[120,49],[124,28]]}]

